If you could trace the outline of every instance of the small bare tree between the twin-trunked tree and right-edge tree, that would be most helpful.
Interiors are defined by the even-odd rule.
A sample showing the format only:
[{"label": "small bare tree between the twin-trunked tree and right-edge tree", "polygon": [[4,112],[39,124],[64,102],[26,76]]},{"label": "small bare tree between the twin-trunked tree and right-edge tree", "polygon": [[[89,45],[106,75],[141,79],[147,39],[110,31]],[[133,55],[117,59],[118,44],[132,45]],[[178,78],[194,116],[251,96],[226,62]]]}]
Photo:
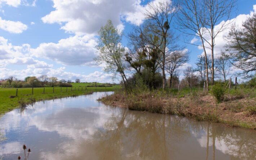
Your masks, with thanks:
[{"label": "small bare tree between the twin-trunked tree and right-edge tree", "polygon": [[229,59],[229,55],[225,52],[221,52],[220,57],[216,58],[217,74],[223,77],[224,81],[226,81],[226,78],[230,75],[231,71],[231,63],[229,62]]}]

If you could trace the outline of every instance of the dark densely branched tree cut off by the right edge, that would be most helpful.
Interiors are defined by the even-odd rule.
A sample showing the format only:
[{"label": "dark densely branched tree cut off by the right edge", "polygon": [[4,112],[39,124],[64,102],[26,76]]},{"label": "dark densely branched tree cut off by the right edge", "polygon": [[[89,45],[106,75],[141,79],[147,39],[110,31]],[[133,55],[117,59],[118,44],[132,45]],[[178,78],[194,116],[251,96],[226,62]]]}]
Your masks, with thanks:
[{"label": "dark densely branched tree cut off by the right edge", "polygon": [[231,63],[251,77],[256,71],[256,13],[237,28],[233,25],[227,37]]}]

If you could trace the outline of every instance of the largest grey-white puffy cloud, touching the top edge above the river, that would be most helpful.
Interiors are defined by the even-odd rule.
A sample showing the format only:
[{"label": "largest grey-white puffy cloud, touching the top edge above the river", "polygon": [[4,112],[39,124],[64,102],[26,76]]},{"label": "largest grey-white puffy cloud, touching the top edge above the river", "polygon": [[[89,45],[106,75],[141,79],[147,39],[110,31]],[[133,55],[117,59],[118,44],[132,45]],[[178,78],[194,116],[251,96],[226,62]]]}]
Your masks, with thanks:
[{"label": "largest grey-white puffy cloud, touching the top edge above the river", "polygon": [[119,27],[120,18],[140,24],[144,19],[142,12],[147,7],[141,5],[141,0],[53,0],[55,10],[41,19],[44,23],[59,23],[66,32],[96,34],[108,19]]}]

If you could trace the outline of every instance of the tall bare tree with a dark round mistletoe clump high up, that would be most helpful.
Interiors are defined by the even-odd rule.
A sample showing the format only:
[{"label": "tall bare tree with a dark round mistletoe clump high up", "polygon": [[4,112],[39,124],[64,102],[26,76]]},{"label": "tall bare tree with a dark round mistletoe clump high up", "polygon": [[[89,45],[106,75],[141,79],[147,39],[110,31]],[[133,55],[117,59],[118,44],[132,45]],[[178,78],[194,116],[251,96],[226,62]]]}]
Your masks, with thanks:
[{"label": "tall bare tree with a dark round mistletoe clump high up", "polygon": [[[148,6],[148,9],[144,13],[147,22],[145,26],[147,32],[142,32],[147,34],[142,34],[141,36],[146,43],[154,46],[154,48],[157,48],[161,53],[159,65],[162,69],[164,89],[166,84],[165,58],[168,52],[167,48],[171,47],[169,41],[169,37],[172,35],[170,26],[178,8],[175,1],[171,0],[160,0],[158,3],[149,3]],[[155,39],[156,37],[158,37],[157,40]],[[158,43],[155,43],[156,41],[158,41]]]}]

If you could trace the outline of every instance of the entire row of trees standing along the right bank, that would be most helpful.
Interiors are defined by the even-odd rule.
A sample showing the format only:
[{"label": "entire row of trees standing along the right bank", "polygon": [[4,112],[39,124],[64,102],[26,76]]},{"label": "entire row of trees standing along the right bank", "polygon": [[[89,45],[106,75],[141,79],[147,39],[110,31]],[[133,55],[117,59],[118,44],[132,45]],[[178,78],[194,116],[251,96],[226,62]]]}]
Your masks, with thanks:
[{"label": "entire row of trees standing along the right bank", "polygon": [[[256,71],[256,14],[248,17],[242,27],[231,25],[236,0],[161,0],[149,3],[145,20],[133,26],[125,35],[128,46],[121,43],[123,33],[109,20],[98,31],[98,64],[104,70],[120,76],[127,92],[132,86],[145,88],[171,87],[173,79],[180,83],[180,68],[189,61],[189,50],[178,44],[176,31],[200,40],[203,55],[196,68],[187,67],[184,79],[190,88],[193,83],[214,85],[215,79],[226,81],[232,68],[241,70],[237,76],[255,78]],[[218,25],[218,27],[215,27]],[[230,28],[225,50],[216,53],[216,37]],[[195,45],[195,44],[193,44]],[[210,80],[210,82],[209,82]],[[182,81],[182,80],[181,80]]]}]

